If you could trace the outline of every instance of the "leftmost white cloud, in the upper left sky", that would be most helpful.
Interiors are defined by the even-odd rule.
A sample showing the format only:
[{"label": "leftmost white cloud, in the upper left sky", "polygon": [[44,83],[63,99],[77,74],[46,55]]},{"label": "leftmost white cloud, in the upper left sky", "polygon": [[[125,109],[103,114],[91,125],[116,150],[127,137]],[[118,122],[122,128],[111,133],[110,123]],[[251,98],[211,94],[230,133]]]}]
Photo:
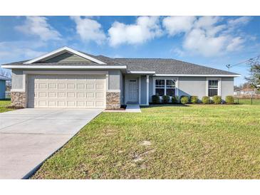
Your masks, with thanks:
[{"label": "leftmost white cloud, in the upper left sky", "polygon": [[38,36],[43,41],[61,40],[61,34],[43,16],[26,16],[25,23],[21,26],[15,26],[15,28],[27,35]]}]

